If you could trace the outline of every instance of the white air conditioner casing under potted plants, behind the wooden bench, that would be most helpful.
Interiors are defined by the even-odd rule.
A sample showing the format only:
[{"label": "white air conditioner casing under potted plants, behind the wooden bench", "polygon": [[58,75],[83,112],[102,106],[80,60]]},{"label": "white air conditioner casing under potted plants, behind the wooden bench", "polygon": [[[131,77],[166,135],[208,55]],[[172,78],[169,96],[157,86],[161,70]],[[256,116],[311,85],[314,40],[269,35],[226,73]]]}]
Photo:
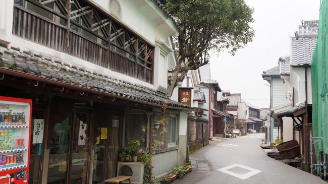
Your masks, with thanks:
[{"label": "white air conditioner casing under potted plants, behind the wooden bench", "polygon": [[120,170],[123,166],[129,166],[132,169],[131,183],[143,183],[143,162],[118,162],[117,164],[117,175],[120,175]]}]

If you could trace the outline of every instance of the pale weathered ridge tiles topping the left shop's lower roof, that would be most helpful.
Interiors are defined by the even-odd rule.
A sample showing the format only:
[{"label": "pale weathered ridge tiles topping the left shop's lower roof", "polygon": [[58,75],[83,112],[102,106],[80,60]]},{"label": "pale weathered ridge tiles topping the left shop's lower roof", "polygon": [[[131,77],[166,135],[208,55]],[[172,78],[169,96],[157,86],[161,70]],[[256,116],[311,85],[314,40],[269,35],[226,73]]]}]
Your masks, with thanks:
[{"label": "pale weathered ridge tiles topping the left shop's lower roof", "polygon": [[120,85],[128,89],[137,89],[138,91],[149,93],[151,95],[170,99],[166,93],[155,91],[140,84],[132,84],[129,81],[117,79],[106,74],[97,73],[82,66],[72,65],[71,63],[64,61],[58,57],[49,56],[41,52],[35,52],[33,50],[23,50],[20,47],[13,46],[9,46],[7,49],[5,49],[4,47],[0,47],[0,55],[3,55],[4,53],[11,54],[14,58],[20,56],[26,59],[26,61],[29,63],[34,62],[47,67],[51,67],[51,69],[54,71],[63,70],[70,73],[76,72],[80,76],[86,76],[87,78],[92,78],[93,80],[96,79],[97,81],[112,82],[116,85]]}]

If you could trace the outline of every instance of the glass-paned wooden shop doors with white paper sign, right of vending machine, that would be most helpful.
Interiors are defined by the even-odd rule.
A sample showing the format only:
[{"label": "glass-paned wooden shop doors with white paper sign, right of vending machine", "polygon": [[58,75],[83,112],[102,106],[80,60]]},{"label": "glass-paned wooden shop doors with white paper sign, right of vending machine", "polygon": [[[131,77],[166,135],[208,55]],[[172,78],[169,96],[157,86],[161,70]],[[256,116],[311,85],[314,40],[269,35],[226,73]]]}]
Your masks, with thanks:
[{"label": "glass-paned wooden shop doors with white paper sign, right of vending machine", "polygon": [[76,109],[56,124],[49,148],[47,183],[88,183],[91,111]]}]

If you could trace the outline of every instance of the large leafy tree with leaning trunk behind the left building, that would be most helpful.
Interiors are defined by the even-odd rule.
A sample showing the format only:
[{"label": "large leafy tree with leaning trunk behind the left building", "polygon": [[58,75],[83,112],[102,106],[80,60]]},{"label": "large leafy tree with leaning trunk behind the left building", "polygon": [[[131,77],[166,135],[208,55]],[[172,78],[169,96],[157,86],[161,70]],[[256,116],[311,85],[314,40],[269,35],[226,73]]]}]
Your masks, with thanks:
[{"label": "large leafy tree with leaning trunk behind the left building", "polygon": [[254,10],[244,0],[161,0],[161,3],[181,21],[179,36],[174,38],[178,63],[168,79],[170,96],[189,70],[209,62],[209,52],[227,49],[234,55],[254,36],[249,25],[254,21]]}]

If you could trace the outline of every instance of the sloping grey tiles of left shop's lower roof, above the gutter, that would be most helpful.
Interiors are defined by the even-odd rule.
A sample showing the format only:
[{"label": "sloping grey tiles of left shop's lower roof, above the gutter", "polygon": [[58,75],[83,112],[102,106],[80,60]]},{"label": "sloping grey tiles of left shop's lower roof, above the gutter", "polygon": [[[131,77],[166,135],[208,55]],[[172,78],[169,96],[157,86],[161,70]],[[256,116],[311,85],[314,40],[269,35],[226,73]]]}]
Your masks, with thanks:
[{"label": "sloping grey tiles of left shop's lower roof, above the gutter", "polygon": [[[70,85],[81,86],[102,92],[139,99],[154,104],[163,104],[164,102],[168,102],[169,106],[172,107],[191,108],[190,106],[171,100],[165,93],[155,91],[139,84],[132,84],[128,81],[106,76],[105,74],[102,76],[97,76],[94,75],[92,71],[83,70],[82,68],[80,68],[80,70],[85,72],[66,70],[62,67],[64,63],[58,64],[61,66],[59,68],[52,67],[47,65],[46,62],[43,62],[47,56],[42,59],[38,58],[39,56],[35,54],[32,56],[34,59],[27,61],[24,59],[26,58],[25,53],[16,54],[17,55],[14,57],[14,52],[6,49],[5,55],[0,54],[0,67],[21,71],[52,80],[62,81]],[[39,59],[41,59],[41,62],[38,62]],[[77,66],[71,67],[72,69],[78,68]]]}]

